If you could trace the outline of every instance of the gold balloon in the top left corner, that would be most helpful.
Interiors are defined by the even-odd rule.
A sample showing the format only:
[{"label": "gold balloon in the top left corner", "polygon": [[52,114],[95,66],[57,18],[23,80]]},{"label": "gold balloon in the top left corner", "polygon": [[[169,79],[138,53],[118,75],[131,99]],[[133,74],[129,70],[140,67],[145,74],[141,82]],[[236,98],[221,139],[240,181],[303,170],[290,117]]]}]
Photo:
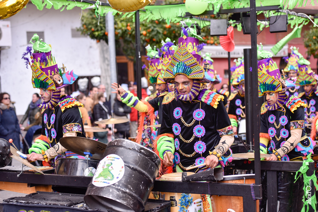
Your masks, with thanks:
[{"label": "gold balloon in the top left corner", "polygon": [[29,0],[2,0],[0,1],[0,19],[9,18],[22,10]]}]

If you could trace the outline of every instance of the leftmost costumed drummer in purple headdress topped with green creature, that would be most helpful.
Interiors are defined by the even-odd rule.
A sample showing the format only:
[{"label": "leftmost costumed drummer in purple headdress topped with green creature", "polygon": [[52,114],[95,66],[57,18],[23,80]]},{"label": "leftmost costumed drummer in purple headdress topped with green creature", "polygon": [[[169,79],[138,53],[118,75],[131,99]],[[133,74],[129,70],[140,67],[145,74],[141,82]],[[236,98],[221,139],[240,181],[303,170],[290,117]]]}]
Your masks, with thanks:
[{"label": "leftmost costumed drummer in purple headdress topped with green creature", "polygon": [[[83,104],[71,96],[61,96],[61,88],[72,84],[76,79],[72,71],[66,71],[66,67],[59,68],[51,53],[51,45],[39,40],[34,34],[31,41],[32,48],[27,47],[23,55],[26,64],[30,64],[32,71],[33,88],[40,89],[43,103],[38,107],[42,112],[42,135],[35,139],[35,143],[29,149],[27,159],[29,161],[45,160],[48,162],[59,154],[63,156],[75,156],[67,151],[59,139],[66,136],[85,137],[84,126],[79,112]],[[31,56],[31,63],[27,55]],[[66,152],[67,151],[67,152]]]}]

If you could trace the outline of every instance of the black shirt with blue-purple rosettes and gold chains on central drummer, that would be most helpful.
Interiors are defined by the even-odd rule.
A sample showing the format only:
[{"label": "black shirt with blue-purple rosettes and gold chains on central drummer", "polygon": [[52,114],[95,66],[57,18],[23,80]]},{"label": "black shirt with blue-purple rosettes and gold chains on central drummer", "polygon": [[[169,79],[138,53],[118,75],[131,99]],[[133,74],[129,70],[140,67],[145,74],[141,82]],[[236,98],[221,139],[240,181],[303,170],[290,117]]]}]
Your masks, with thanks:
[{"label": "black shirt with blue-purple rosettes and gold chains on central drummer", "polygon": [[[182,170],[202,164],[221,136],[233,134],[224,105],[214,101],[217,96],[221,95],[201,90],[192,102],[176,100],[173,92],[163,99],[160,134],[174,135],[175,162]],[[230,156],[229,150],[224,157]]]}]

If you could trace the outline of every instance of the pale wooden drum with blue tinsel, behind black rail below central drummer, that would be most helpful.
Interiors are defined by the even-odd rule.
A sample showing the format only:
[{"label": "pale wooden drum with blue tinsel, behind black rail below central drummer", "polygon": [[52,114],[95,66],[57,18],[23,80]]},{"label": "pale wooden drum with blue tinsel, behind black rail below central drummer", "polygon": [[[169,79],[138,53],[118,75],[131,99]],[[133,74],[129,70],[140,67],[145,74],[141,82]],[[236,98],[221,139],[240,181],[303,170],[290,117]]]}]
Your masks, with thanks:
[{"label": "pale wooden drum with blue tinsel, behind black rail below central drummer", "polygon": [[[188,172],[188,176],[194,174],[193,172]],[[171,174],[162,175],[159,180],[169,180],[169,181],[182,181],[182,172],[176,172]],[[181,193],[169,193],[169,192],[151,192],[149,199],[164,198],[164,200],[170,200],[171,202],[171,212],[178,212],[180,203],[179,199]],[[200,194],[190,194],[193,197],[193,202],[190,206],[186,207],[188,212],[203,212],[203,203]]]}]

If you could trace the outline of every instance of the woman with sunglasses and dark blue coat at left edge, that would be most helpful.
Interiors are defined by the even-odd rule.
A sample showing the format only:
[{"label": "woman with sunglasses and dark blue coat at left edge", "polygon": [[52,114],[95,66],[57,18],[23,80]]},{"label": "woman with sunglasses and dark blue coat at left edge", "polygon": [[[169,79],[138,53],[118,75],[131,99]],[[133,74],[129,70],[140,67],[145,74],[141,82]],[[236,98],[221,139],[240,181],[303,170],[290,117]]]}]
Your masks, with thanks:
[{"label": "woman with sunglasses and dark blue coat at left edge", "polygon": [[0,93],[0,138],[13,140],[20,150],[20,126],[15,108],[8,93]]}]

